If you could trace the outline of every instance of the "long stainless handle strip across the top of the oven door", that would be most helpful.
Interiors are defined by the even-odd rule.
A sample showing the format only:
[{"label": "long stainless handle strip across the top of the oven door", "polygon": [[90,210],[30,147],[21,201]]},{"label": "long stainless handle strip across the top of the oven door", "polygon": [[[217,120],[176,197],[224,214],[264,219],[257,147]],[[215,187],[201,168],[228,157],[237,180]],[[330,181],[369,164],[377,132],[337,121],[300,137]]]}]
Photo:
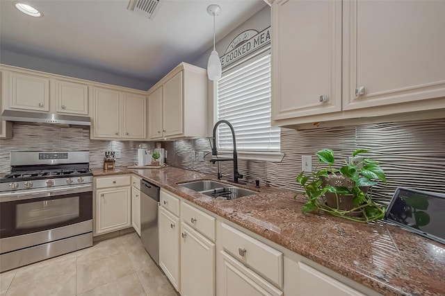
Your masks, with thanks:
[{"label": "long stainless handle strip across the top of the oven door", "polygon": [[39,189],[35,191],[9,191],[0,194],[0,202],[10,202],[13,200],[29,200],[33,198],[44,198],[47,196],[57,196],[66,194],[76,194],[92,191],[92,184],[82,184],[70,186],[68,188],[51,188]]}]

